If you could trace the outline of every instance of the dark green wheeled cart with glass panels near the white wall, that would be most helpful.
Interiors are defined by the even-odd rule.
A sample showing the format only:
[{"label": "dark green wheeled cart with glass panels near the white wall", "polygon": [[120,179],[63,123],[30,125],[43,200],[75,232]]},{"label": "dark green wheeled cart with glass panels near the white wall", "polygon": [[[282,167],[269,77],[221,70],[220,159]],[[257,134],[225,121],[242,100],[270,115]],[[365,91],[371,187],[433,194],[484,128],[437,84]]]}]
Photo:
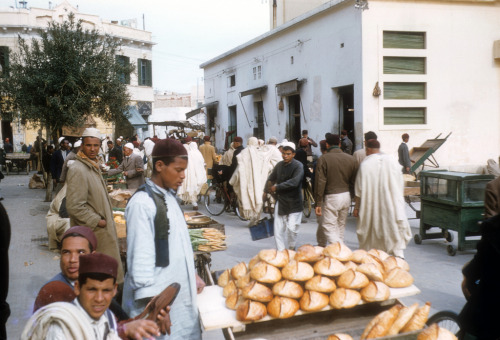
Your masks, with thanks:
[{"label": "dark green wheeled cart with glass panels near the white wall", "polygon": [[[480,221],[484,218],[484,191],[492,175],[478,175],[446,170],[420,172],[420,232],[414,236],[416,244],[422,240],[444,238],[453,241],[449,230],[458,232],[458,250],[475,249],[480,235]],[[440,232],[429,232],[440,228]],[[447,246],[454,256],[456,249]]]}]

